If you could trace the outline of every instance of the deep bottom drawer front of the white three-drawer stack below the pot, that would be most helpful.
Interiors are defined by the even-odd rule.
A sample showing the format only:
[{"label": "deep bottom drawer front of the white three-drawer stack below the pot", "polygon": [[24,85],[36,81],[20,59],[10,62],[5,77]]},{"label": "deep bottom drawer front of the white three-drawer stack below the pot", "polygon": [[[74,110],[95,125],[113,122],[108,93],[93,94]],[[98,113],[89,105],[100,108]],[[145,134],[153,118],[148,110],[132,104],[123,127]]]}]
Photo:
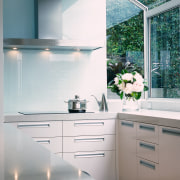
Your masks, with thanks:
[{"label": "deep bottom drawer front of the white three-drawer stack below the pot", "polygon": [[116,180],[115,151],[63,153],[63,159],[96,180]]}]

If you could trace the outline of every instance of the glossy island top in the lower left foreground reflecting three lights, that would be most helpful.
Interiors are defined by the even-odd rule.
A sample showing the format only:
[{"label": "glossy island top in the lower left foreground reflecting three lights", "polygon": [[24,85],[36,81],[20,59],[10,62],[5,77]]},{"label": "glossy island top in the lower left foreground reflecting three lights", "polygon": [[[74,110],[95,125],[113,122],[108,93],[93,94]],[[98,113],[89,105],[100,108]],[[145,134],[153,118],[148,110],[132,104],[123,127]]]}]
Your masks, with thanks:
[{"label": "glossy island top in the lower left foreground reflecting three lights", "polygon": [[0,124],[0,179],[93,180],[10,124]]}]

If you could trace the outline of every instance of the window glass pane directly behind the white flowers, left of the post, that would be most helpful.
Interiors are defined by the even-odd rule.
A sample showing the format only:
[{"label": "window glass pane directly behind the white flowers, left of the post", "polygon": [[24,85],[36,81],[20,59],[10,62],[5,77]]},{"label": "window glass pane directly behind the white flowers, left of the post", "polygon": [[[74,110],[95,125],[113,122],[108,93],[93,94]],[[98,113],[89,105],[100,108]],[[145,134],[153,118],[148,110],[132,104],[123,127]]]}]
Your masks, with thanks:
[{"label": "window glass pane directly behind the white flowers, left of the post", "polygon": [[[107,83],[130,62],[144,67],[143,11],[129,0],[106,0]],[[143,72],[142,72],[143,73]],[[108,89],[108,98],[119,99]]]}]

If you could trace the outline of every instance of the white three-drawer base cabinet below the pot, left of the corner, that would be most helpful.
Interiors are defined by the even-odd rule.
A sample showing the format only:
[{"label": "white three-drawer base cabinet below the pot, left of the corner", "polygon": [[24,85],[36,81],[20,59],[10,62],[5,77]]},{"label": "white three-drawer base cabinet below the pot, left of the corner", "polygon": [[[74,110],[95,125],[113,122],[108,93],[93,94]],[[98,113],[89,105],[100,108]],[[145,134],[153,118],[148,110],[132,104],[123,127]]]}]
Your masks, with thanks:
[{"label": "white three-drawer base cabinet below the pot, left of the corner", "polygon": [[116,179],[116,120],[63,122],[63,159],[96,180]]}]

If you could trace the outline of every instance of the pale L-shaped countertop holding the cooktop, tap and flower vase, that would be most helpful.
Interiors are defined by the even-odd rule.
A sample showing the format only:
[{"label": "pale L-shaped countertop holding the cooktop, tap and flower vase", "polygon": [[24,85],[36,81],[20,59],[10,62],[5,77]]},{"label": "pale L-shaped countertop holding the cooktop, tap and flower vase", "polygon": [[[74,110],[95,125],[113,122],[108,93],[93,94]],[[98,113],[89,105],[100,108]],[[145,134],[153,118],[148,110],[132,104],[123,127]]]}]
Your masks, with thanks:
[{"label": "pale L-shaped countertop holding the cooktop, tap and flower vase", "polygon": [[94,113],[67,113],[67,114],[35,114],[5,115],[5,122],[28,122],[28,121],[68,121],[90,119],[126,119],[137,122],[157,124],[180,128],[180,112],[145,110],[134,112],[94,112]]}]

